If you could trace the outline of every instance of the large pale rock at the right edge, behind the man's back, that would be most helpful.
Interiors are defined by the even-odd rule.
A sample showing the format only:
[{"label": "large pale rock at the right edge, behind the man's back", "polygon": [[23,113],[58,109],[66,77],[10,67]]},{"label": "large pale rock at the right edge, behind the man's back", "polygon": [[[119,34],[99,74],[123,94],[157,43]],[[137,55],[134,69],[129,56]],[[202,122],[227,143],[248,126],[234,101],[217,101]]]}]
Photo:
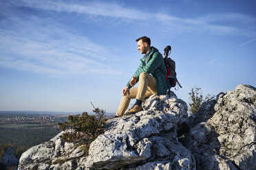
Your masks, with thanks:
[{"label": "large pale rock at the right edge, behind the man's back", "polygon": [[256,169],[256,88],[239,85],[189,118],[182,143],[197,169]]}]

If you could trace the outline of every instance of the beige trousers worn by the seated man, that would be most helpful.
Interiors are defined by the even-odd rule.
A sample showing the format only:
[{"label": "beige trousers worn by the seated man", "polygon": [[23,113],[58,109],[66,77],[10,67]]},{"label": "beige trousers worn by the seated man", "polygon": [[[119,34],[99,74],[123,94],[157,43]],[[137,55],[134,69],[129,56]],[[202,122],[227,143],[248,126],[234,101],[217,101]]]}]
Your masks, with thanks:
[{"label": "beige trousers worn by the seated man", "polygon": [[144,97],[149,97],[153,94],[157,94],[156,78],[145,72],[140,73],[138,87],[131,88],[125,96],[122,96],[116,116],[122,117],[125,114],[131,99],[143,101]]}]

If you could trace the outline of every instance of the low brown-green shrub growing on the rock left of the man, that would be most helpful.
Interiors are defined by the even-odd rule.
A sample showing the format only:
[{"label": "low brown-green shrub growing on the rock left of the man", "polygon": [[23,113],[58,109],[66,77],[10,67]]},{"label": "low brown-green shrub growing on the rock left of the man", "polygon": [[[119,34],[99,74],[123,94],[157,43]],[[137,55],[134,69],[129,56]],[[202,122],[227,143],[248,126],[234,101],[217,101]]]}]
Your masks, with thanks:
[{"label": "low brown-green shrub growing on the rock left of the man", "polygon": [[94,107],[92,111],[96,115],[89,115],[87,112],[83,112],[82,114],[70,115],[67,118],[68,121],[58,123],[61,130],[64,131],[63,141],[82,144],[86,155],[89,151],[89,145],[100,134],[105,132],[105,110]]}]

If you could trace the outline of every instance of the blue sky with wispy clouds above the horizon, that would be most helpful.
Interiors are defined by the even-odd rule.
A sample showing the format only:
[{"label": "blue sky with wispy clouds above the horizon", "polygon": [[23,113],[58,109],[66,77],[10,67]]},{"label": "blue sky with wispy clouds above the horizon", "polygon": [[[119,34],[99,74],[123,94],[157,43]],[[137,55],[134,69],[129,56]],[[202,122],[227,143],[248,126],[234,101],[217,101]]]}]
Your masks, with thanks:
[{"label": "blue sky with wispy clouds above the horizon", "polygon": [[[188,104],[256,86],[256,1],[0,0],[0,110],[115,113],[142,54],[171,45]],[[132,100],[131,104],[135,101]]]}]

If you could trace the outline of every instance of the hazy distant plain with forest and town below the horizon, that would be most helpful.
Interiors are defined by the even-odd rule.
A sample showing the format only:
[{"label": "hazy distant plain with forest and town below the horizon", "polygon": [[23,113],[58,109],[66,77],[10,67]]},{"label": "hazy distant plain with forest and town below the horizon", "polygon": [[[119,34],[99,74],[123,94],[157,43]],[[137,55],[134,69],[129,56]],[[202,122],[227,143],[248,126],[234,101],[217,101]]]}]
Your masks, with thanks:
[{"label": "hazy distant plain with forest and town below the horizon", "polygon": [[[0,158],[3,150],[10,146],[20,158],[30,147],[49,141],[61,132],[57,123],[67,121],[69,114],[79,113],[0,111]],[[111,114],[106,114],[106,117],[111,117]]]}]

